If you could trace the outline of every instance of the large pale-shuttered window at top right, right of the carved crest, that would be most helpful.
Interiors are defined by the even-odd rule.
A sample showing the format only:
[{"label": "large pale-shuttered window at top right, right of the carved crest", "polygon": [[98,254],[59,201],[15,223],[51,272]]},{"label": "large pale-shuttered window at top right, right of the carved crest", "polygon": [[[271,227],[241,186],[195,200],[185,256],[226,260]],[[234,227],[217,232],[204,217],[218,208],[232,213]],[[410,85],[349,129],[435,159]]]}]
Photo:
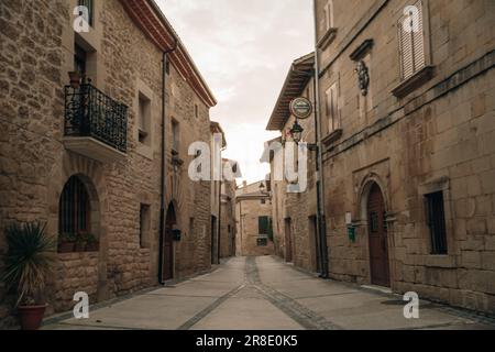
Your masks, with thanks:
[{"label": "large pale-shuttered window at top right, right of the carved crest", "polygon": [[426,66],[422,0],[409,6],[398,22],[400,78],[406,80]]}]

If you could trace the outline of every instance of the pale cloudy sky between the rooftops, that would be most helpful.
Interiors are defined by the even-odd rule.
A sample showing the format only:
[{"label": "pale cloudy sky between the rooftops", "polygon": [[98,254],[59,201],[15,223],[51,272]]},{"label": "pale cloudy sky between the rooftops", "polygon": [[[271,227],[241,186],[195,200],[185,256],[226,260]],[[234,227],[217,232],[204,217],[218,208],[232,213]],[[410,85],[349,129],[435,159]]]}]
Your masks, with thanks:
[{"label": "pale cloudy sky between the rooftops", "polygon": [[[314,47],[310,0],[156,0],[218,100],[210,119],[227,136],[224,157],[243,179],[270,172],[260,164],[265,131],[294,59]],[[242,179],[241,179],[242,180]]]}]

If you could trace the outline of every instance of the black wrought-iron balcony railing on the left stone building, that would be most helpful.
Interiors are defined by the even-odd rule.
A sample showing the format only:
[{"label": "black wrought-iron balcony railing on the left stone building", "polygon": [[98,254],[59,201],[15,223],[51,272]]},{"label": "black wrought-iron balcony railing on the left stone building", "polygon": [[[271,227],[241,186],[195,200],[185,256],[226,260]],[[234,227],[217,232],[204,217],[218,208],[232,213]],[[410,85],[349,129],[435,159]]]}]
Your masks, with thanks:
[{"label": "black wrought-iron balcony railing on the left stone building", "polygon": [[127,152],[128,107],[90,84],[65,87],[65,135],[94,138]]}]

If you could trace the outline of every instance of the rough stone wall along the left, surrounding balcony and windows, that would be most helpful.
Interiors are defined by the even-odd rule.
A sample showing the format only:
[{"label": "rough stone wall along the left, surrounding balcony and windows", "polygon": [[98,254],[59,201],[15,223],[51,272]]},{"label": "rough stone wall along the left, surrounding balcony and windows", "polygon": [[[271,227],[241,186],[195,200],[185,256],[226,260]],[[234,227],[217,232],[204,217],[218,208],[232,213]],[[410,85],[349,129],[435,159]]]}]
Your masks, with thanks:
[{"label": "rough stone wall along the left, surrounding balcony and windows", "polygon": [[[73,175],[84,179],[98,220],[92,224],[100,239],[98,254],[58,255],[48,283],[54,308],[48,314],[70,308],[77,290],[87,289],[95,302],[150,287],[158,276],[162,52],[120,1],[97,2],[95,29],[81,35],[72,28],[72,6],[62,0],[0,4],[0,230],[10,221],[38,220],[47,222],[48,232],[56,237],[58,199]],[[75,41],[95,50],[91,62],[96,63],[88,68],[94,85],[129,107],[128,152],[122,161],[102,164],[64,147],[64,86],[73,70]],[[166,205],[175,205],[177,226],[184,230],[183,241],[174,244],[174,273],[183,277],[210,267],[210,184],[193,183],[187,176],[189,143],[209,142],[209,108],[173,65],[167,78]],[[141,89],[152,92],[147,150],[136,133]],[[179,167],[172,165],[172,119],[180,124],[184,165]],[[141,204],[150,206],[143,248]],[[190,217],[195,218],[191,232]],[[0,256],[4,251],[0,235]],[[0,286],[3,297],[1,290]],[[10,306],[2,306],[0,321],[9,315]]]}]

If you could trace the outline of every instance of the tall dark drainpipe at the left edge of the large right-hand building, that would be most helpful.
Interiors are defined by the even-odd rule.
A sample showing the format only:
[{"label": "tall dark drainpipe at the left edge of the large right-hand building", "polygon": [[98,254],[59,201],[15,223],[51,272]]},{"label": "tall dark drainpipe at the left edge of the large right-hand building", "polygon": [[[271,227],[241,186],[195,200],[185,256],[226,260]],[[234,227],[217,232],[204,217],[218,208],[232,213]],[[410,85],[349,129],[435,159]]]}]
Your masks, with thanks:
[{"label": "tall dark drainpipe at the left edge of the large right-hand building", "polygon": [[317,140],[317,230],[320,238],[320,277],[328,278],[328,245],[327,245],[327,220],[324,216],[324,173],[323,173],[323,147],[321,143],[321,109],[320,109],[320,63],[318,55],[318,23],[317,23],[317,2],[312,0],[315,19],[315,134]]}]

